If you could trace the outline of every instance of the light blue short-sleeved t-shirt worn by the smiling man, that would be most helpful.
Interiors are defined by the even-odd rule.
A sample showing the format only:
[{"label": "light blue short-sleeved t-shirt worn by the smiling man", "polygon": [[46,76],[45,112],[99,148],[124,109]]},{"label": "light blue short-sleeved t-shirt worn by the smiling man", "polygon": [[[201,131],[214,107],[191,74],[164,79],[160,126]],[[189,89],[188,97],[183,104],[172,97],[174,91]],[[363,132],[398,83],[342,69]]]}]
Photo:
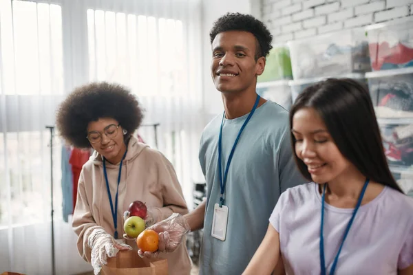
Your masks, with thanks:
[{"label": "light blue short-sleeved t-shirt worn by the smiling man", "polygon": [[[222,162],[248,114],[224,120]],[[293,159],[288,111],[268,101],[255,110],[235,148],[225,188],[229,208],[225,241],[211,236],[213,208],[220,201],[218,135],[222,114],[205,127],[200,164],[207,181],[207,208],[201,248],[200,274],[242,274],[268,228],[268,219],[281,192],[306,182]]]}]

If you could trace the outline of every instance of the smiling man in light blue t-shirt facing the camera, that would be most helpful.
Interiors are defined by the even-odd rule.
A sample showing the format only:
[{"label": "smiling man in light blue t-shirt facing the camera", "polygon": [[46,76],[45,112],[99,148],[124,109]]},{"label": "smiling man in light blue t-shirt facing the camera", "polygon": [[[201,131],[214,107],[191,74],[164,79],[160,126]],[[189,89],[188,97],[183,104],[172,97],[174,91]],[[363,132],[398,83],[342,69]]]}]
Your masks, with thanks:
[{"label": "smiling man in light blue t-shirt facing the camera", "polygon": [[225,111],[201,137],[207,200],[154,229],[160,252],[172,252],[185,232],[204,228],[200,274],[239,275],[264,238],[279,195],[305,180],[293,160],[288,111],[256,92],[271,50],[270,32],[251,15],[236,13],[215,21],[210,36],[211,74]]}]

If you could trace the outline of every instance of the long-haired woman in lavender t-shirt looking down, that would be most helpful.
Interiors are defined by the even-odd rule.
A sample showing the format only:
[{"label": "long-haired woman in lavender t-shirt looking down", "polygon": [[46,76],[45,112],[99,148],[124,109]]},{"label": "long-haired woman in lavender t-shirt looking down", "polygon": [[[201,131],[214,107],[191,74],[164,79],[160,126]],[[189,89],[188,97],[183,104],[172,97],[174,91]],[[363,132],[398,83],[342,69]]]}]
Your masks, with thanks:
[{"label": "long-haired woman in lavender t-shirt looking down", "polygon": [[244,274],[413,274],[413,199],[392,177],[367,89],[350,79],[308,87],[290,127],[312,182],[279,197]]}]

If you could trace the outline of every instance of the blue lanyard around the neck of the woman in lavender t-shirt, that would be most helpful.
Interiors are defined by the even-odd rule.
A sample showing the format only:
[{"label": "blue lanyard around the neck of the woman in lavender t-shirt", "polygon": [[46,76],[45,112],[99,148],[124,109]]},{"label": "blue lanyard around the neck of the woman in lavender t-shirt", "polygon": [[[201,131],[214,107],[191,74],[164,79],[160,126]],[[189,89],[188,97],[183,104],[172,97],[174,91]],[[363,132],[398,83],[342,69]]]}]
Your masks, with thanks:
[{"label": "blue lanyard around the neck of the woman in lavender t-shirt", "polygon": [[[337,255],[335,256],[334,261],[332,262],[331,270],[330,270],[330,275],[333,275],[335,272],[335,269],[337,267],[337,262],[339,261],[339,255],[341,252],[341,248],[343,248],[344,241],[346,241],[346,237],[348,235],[348,232],[350,231],[350,227],[352,225],[352,222],[354,221],[354,217],[356,217],[357,211],[360,208],[361,201],[363,200],[364,193],[366,192],[366,188],[368,186],[368,181],[370,179],[366,179],[366,183],[363,186],[363,189],[361,190],[359,201],[357,201],[356,208],[354,208],[354,211],[352,213],[352,217],[350,221],[348,221],[348,225],[346,228],[346,231],[344,232],[343,236],[343,241],[341,241],[341,245],[339,248],[339,251],[337,252]],[[323,225],[324,225],[324,201],[326,197],[326,186],[327,184],[324,184],[324,189],[323,189],[323,201],[321,202],[321,230],[320,230],[320,265],[321,265],[321,275],[326,275],[326,260],[324,259],[324,230],[323,230]]]}]

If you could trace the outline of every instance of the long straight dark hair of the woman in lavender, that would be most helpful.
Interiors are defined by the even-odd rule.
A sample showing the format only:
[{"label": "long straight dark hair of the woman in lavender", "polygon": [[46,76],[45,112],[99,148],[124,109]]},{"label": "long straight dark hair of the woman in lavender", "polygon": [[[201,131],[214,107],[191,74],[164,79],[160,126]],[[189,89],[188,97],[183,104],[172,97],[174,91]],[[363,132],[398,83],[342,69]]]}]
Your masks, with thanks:
[{"label": "long straight dark hair of the woman in lavender", "polygon": [[[366,87],[350,78],[329,78],[307,87],[290,109],[290,129],[294,114],[305,107],[319,113],[341,154],[364,176],[403,193],[385,158],[379,124]],[[299,170],[311,181],[306,164],[295,153],[293,133],[291,144]]]}]

